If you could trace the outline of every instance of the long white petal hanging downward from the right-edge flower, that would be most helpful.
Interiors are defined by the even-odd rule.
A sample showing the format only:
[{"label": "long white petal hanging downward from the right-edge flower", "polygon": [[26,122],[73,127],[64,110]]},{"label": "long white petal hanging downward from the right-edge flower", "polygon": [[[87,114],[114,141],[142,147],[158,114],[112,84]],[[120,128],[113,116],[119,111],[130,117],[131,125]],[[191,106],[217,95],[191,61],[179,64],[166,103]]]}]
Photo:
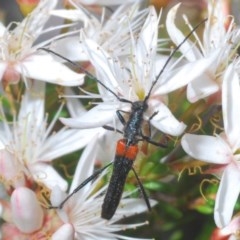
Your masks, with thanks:
[{"label": "long white petal hanging downward from the right-edge flower", "polygon": [[227,226],[240,192],[240,166],[229,164],[223,173],[216,196],[214,220],[219,228]]}]

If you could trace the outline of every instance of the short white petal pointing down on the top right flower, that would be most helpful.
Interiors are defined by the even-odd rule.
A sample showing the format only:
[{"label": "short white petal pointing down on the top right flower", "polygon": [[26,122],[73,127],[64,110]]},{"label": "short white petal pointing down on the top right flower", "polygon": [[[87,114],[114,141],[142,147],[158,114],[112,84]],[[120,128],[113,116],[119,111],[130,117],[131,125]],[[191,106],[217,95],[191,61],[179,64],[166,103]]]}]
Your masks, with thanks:
[{"label": "short white petal pointing down on the top right flower", "polygon": [[200,99],[210,96],[219,90],[219,86],[215,79],[207,74],[197,77],[187,86],[187,99],[194,103]]}]

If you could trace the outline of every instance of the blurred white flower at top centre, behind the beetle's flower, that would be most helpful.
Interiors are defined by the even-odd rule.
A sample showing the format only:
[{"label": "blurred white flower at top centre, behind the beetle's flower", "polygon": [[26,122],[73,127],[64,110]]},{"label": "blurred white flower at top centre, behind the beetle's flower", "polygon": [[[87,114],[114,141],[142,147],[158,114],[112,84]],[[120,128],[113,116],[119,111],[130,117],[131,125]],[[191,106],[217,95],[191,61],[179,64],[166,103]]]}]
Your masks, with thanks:
[{"label": "blurred white flower at top centre, behind the beetle's flower", "polygon": [[[115,2],[115,1],[114,1]],[[83,9],[79,1],[73,1],[76,9],[53,10],[53,15],[67,18],[71,21],[82,21],[84,35],[97,42],[105,51],[122,56],[129,53],[131,42],[130,34],[137,34],[142,27],[148,9],[139,10],[140,4],[125,4],[119,6],[108,16],[106,9],[102,16],[96,16]],[[117,27],[116,27],[117,26]],[[131,29],[131,33],[130,33]],[[84,46],[80,43],[82,36],[68,36],[52,43],[51,49],[72,61],[87,61]]]}]

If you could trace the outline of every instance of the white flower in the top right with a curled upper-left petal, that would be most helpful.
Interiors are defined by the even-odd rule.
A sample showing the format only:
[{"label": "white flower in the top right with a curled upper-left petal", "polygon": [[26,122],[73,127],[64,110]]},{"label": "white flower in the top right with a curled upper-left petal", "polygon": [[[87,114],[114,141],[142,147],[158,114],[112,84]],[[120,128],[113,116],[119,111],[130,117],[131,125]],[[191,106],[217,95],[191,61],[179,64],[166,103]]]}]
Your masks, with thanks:
[{"label": "white flower in the top right with a curled upper-left petal", "polygon": [[[234,28],[233,19],[228,29],[225,28],[227,18],[223,15],[221,4],[221,0],[208,1],[208,19],[203,30],[203,41],[194,35],[199,48],[190,40],[180,48],[182,54],[192,63],[192,72],[195,74],[194,78],[192,72],[185,75],[185,81],[189,82],[187,98],[190,102],[219,91],[222,75],[234,57],[234,45],[239,42],[240,31]],[[168,33],[176,45],[185,38],[174,23],[178,7],[179,4],[169,11],[166,22]]]}]

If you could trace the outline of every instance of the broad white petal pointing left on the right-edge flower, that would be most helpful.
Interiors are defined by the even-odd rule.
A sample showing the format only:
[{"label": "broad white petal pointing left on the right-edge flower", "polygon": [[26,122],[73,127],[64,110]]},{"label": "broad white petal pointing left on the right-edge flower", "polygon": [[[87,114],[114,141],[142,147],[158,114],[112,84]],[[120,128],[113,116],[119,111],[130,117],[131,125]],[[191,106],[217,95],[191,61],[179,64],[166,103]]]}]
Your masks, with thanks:
[{"label": "broad white petal pointing left on the right-edge flower", "polygon": [[220,137],[185,134],[181,144],[188,155],[205,162],[227,164],[231,160],[231,150]]}]

